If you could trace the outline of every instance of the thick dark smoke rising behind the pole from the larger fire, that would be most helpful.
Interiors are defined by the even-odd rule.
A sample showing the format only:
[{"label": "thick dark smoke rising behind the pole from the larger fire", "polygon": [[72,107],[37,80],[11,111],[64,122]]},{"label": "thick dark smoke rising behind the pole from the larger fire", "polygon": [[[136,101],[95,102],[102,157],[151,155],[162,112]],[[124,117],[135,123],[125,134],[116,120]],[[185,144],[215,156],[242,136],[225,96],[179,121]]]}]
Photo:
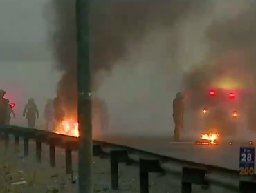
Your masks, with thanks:
[{"label": "thick dark smoke rising behind the pole from the larger fire", "polygon": [[[91,70],[109,70],[124,57],[129,41],[143,38],[147,26],[172,26],[190,10],[200,10],[201,1],[91,1]],[[53,0],[53,17],[48,20],[53,28],[51,41],[57,68],[64,72],[57,92],[66,108],[76,106],[76,28],[75,1]],[[136,65],[136,64],[134,64]],[[96,86],[97,87],[97,86]]]}]

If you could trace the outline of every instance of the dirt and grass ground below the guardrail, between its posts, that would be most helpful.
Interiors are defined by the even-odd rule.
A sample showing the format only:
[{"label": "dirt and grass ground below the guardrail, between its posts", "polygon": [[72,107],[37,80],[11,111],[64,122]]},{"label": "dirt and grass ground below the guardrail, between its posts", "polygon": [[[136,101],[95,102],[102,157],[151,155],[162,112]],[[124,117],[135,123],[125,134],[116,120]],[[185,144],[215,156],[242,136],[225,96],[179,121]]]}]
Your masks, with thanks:
[{"label": "dirt and grass ground below the guardrail, between its posts", "polygon": [[[0,141],[0,190],[1,192],[15,193],[71,193],[77,191],[77,152],[73,152],[73,179],[65,174],[64,150],[56,149],[56,165],[51,168],[48,159],[48,146],[42,145],[42,163],[35,159],[35,143],[30,143],[30,154],[24,157],[23,143],[15,148],[13,141],[6,151],[3,141]],[[120,164],[120,190],[111,190],[111,176],[109,159],[93,157],[93,183],[94,192],[105,193],[135,193],[140,192],[138,167]],[[18,183],[18,184],[17,184]],[[19,184],[20,183],[20,184]],[[212,187],[210,190],[202,190],[201,187],[193,187],[193,192],[221,192]],[[175,176],[149,175],[149,192],[172,193],[181,192],[181,179]]]}]

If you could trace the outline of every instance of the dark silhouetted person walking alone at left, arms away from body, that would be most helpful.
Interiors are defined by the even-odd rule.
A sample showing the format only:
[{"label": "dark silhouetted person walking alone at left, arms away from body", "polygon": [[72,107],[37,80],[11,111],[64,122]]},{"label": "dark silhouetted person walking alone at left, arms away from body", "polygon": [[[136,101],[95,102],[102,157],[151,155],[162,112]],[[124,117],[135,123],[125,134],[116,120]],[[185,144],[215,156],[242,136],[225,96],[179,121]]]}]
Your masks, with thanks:
[{"label": "dark silhouetted person walking alone at left, arms away from body", "polygon": [[39,112],[34,99],[28,99],[28,104],[26,104],[23,116],[28,119],[28,127],[35,128],[35,120],[39,119]]}]

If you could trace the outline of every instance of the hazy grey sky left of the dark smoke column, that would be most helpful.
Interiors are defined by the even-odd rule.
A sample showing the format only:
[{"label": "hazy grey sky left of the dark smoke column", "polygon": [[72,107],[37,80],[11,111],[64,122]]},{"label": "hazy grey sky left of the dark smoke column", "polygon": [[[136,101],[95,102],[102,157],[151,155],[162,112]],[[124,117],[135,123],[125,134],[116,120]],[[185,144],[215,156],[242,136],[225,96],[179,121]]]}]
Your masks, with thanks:
[{"label": "hazy grey sky left of the dark smoke column", "polygon": [[59,74],[48,45],[47,0],[0,0],[0,88],[21,111],[29,97],[43,110]]}]

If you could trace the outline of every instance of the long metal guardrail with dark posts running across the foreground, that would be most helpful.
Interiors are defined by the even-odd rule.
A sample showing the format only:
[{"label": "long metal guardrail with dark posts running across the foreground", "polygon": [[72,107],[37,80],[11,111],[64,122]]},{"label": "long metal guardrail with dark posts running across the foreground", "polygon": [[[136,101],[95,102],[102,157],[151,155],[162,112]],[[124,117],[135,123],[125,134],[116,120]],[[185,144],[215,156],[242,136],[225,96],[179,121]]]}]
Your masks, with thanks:
[{"label": "long metal guardrail with dark posts running across the foreground", "polygon": [[[76,137],[17,126],[0,127],[0,132],[3,134],[6,148],[10,145],[10,135],[14,136],[15,145],[19,144],[19,138],[24,139],[24,156],[29,154],[29,140],[35,141],[36,159],[39,163],[41,162],[42,143],[48,144],[51,167],[56,166],[55,147],[64,148],[66,174],[72,174],[72,151],[78,150]],[[180,177],[182,193],[191,193],[192,184],[202,185],[205,189],[210,188],[210,185],[217,185],[235,192],[256,192],[255,175],[248,179],[242,179],[236,170],[183,161],[104,141],[93,141],[93,156],[110,157],[111,187],[113,190],[117,190],[119,187],[118,163],[126,163],[127,165],[138,163],[141,193],[149,192],[149,173],[172,174]]]}]

